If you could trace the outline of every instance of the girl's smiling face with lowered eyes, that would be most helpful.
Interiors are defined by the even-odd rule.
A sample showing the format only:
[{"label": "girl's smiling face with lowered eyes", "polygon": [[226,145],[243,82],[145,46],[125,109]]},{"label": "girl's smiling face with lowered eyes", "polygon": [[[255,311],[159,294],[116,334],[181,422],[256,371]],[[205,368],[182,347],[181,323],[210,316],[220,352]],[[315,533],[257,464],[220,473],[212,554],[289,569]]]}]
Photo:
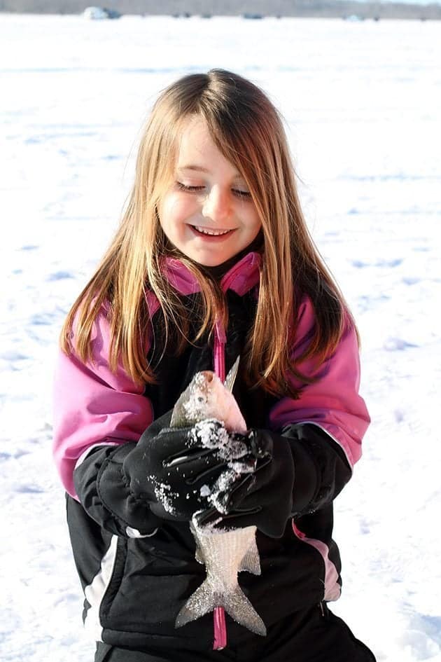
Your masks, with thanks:
[{"label": "girl's smiling face with lowered eyes", "polygon": [[158,214],[169,241],[207,267],[234,257],[259,233],[244,178],[218,150],[200,117],[184,125],[174,181],[162,195]]}]

